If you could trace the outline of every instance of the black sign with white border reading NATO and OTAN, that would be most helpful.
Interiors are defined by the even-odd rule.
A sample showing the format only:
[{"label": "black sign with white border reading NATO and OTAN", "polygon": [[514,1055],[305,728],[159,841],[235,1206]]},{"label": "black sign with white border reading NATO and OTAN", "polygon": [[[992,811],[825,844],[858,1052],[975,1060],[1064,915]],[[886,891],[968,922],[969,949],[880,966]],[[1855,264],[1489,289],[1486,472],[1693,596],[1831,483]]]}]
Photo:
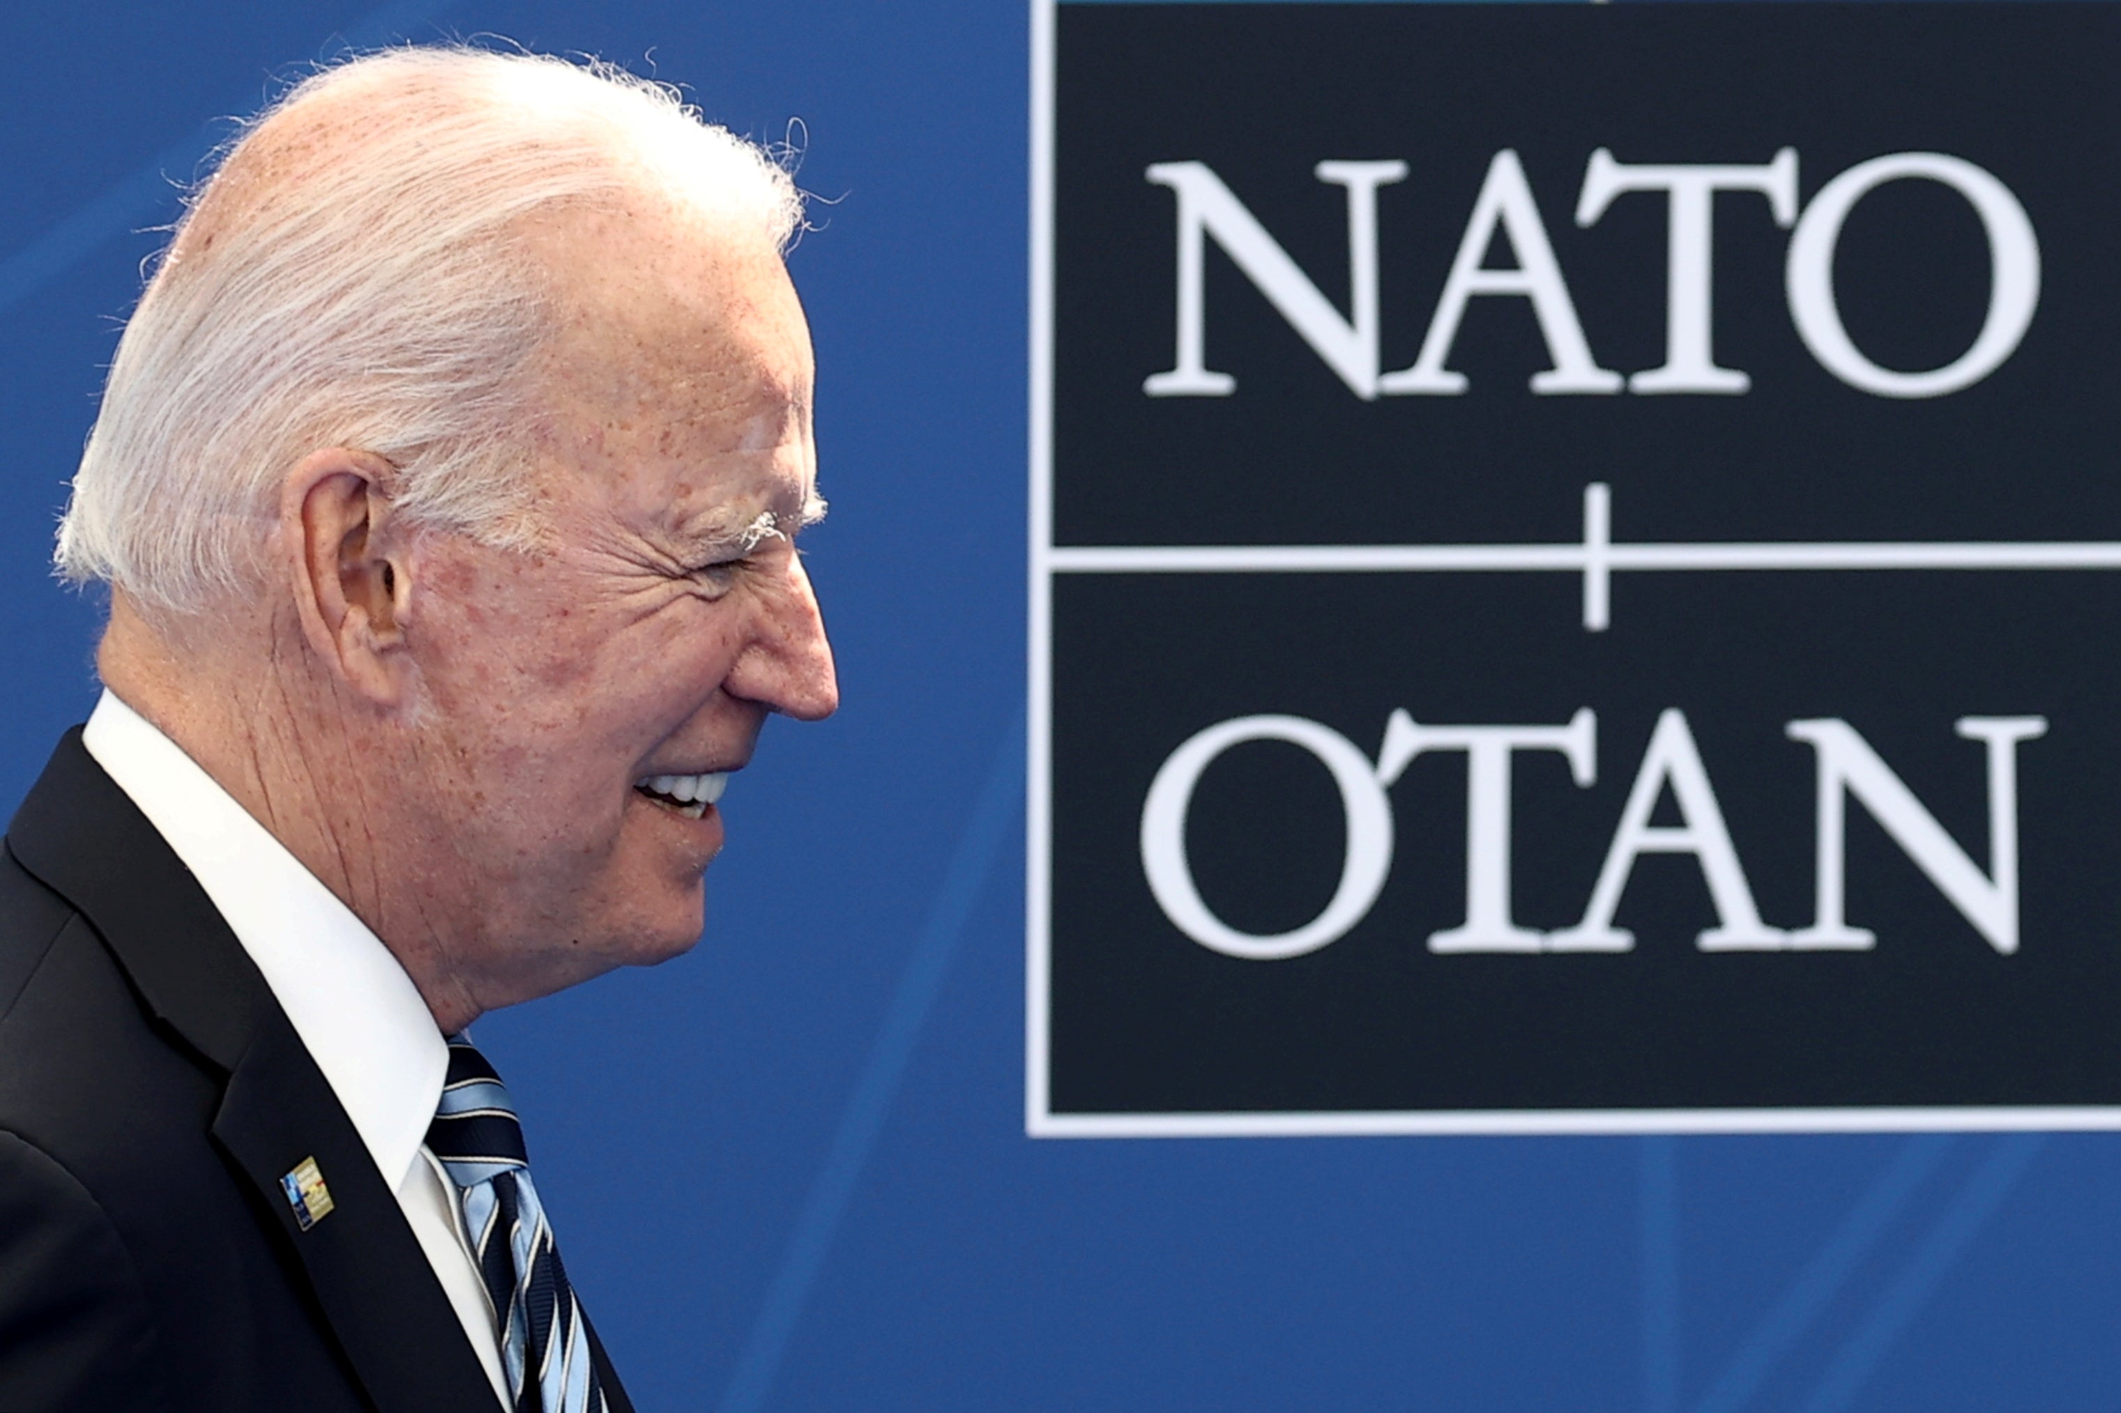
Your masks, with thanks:
[{"label": "black sign with white border reading NATO and OTAN", "polygon": [[1039,25],[1029,1127],[2121,1127],[2121,11]]}]

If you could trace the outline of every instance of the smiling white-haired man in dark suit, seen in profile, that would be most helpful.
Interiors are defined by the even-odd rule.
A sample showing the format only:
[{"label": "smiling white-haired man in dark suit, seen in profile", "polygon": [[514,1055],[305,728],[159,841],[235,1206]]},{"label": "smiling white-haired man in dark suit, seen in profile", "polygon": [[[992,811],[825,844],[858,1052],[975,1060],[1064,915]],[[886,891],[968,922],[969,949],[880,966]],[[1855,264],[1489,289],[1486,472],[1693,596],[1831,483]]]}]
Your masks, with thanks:
[{"label": "smiling white-haired man in dark suit, seen in profile", "polygon": [[662,89],[462,49],[197,195],[0,857],[0,1407],[630,1407],[462,1031],[689,948],[730,772],[836,704],[797,221]]}]

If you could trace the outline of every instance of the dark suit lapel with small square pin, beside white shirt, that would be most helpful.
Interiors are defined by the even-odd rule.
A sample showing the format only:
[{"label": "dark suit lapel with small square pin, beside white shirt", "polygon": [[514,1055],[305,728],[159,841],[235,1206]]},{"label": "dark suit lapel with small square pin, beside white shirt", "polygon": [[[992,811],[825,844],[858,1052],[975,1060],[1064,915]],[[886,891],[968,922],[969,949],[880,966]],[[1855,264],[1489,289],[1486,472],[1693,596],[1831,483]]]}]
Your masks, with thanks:
[{"label": "dark suit lapel with small square pin, beside white shirt", "polygon": [[[263,1201],[382,1413],[490,1409],[462,1334],[395,1192],[235,934],[72,730],[6,847],[102,934],[148,1008],[227,1074],[212,1137]],[[282,1175],[314,1161],[331,1211],[303,1231]],[[314,1203],[320,1207],[322,1203]]]}]

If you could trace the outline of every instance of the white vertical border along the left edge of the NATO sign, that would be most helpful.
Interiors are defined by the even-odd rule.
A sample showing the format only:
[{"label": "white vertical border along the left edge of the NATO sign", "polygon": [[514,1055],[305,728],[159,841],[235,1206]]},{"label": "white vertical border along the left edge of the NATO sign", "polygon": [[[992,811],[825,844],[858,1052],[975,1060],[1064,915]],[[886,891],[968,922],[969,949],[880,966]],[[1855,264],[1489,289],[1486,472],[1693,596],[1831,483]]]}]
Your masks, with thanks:
[{"label": "white vertical border along the left edge of the NATO sign", "polygon": [[1024,681],[1024,1131],[1050,1112],[1048,813],[1052,806],[1052,282],[1054,282],[1054,15],[1056,0],[1031,0],[1031,583],[1029,673]]}]

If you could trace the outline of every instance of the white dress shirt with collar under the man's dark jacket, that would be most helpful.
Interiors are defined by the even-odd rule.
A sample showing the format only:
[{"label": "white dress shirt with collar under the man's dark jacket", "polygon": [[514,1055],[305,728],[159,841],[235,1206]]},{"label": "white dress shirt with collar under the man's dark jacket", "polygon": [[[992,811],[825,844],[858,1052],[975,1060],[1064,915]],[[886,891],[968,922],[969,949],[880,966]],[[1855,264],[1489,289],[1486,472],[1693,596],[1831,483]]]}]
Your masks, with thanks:
[{"label": "white dress shirt with collar under the man's dark jacket", "polygon": [[199,880],[265,974],[310,1059],[397,1192],[435,1277],[509,1407],[486,1281],[456,1190],[426,1150],[450,1048],[390,948],[214,777],[104,692],[83,745]]}]

